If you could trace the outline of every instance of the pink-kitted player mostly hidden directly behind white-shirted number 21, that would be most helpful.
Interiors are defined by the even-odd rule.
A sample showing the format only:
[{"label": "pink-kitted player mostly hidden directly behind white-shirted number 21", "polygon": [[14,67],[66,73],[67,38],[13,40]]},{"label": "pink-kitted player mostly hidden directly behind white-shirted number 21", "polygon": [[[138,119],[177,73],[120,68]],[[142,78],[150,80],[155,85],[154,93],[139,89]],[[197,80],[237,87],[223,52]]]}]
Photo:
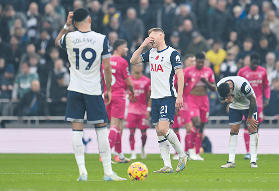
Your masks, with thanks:
[{"label": "pink-kitted player mostly hidden directly behind white-shirted number 21", "polygon": [[[195,63],[196,63],[195,55],[186,54],[185,61],[184,61],[185,66],[189,67],[189,66],[195,65]],[[186,68],[183,68],[184,73],[185,73],[185,69]],[[177,89],[177,76],[175,76],[174,84]],[[185,89],[184,89],[184,91],[185,91]],[[181,138],[180,138],[179,128],[185,126],[186,131],[187,131],[187,134],[185,136],[185,152],[187,152],[188,151],[187,141],[189,142],[189,140],[190,140],[190,131],[191,131],[193,124],[192,124],[192,121],[190,118],[190,114],[188,112],[188,103],[187,103],[187,98],[186,98],[185,94],[183,94],[183,105],[184,105],[183,108],[181,108],[179,111],[176,111],[175,116],[174,116],[174,122],[171,127],[173,128],[173,131],[176,133],[177,138],[180,141]],[[179,159],[177,153],[173,156],[172,159],[173,160]]]}]

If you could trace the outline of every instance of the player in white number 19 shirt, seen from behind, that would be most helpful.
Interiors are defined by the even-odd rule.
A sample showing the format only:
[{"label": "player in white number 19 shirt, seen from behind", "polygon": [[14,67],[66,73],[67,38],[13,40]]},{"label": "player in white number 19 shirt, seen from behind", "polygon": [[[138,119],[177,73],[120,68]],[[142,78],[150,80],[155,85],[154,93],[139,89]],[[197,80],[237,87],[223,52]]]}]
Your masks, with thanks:
[{"label": "player in white number 19 shirt, seen from behind", "polygon": [[[74,20],[78,31],[68,32]],[[104,181],[126,180],[116,175],[111,167],[111,151],[108,140],[107,114],[101,87],[101,63],[104,64],[107,91],[105,97],[111,100],[111,65],[108,38],[91,31],[91,17],[85,8],[68,13],[66,24],[58,34],[55,44],[66,48],[70,62],[70,84],[65,120],[72,124],[72,143],[79,168],[77,181],[87,181],[85,168],[83,137],[84,114],[87,111],[88,123],[94,124],[98,149],[102,157]]]}]

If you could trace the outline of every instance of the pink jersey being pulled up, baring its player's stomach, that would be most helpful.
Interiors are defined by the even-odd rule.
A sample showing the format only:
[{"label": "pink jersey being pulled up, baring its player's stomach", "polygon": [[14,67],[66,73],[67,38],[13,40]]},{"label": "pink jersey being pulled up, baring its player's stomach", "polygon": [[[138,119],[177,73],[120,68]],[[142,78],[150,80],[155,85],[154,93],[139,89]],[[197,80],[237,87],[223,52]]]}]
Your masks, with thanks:
[{"label": "pink jersey being pulled up, baring its player's stomach", "polygon": [[195,65],[192,65],[186,67],[183,73],[185,83],[184,96],[188,96],[195,86],[206,86],[205,83],[201,81],[201,78],[205,78],[210,83],[215,82],[214,73],[210,67],[203,66],[202,69],[199,70]]}]

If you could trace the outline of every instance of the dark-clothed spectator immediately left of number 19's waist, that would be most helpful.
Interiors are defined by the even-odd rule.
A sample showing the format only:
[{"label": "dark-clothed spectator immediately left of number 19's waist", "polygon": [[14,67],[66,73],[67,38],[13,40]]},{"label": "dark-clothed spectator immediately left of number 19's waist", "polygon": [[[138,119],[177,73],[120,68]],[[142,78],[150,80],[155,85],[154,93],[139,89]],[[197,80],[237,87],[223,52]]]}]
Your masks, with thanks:
[{"label": "dark-clothed spectator immediately left of number 19's waist", "polygon": [[55,75],[57,84],[51,87],[50,114],[52,116],[64,116],[66,113],[68,86],[64,83],[64,73]]}]

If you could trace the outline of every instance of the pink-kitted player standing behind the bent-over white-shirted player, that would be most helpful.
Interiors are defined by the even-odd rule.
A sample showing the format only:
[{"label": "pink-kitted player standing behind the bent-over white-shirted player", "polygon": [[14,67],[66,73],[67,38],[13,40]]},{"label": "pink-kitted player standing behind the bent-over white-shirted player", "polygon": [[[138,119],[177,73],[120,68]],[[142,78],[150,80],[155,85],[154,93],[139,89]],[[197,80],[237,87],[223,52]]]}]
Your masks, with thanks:
[{"label": "pink-kitted player standing behind the bent-over white-shirted player", "polygon": [[[257,101],[257,107],[258,107],[258,122],[259,124],[263,122],[263,108],[268,106],[269,99],[270,99],[270,87],[268,85],[267,80],[267,72],[266,69],[260,64],[260,57],[257,54],[253,54],[250,57],[250,64],[247,66],[244,66],[243,68],[240,68],[238,71],[238,76],[242,76],[248,80],[248,82],[251,84],[255,95],[256,95],[256,101]],[[263,102],[263,94],[265,95],[265,101]],[[259,125],[258,125],[259,127]],[[248,132],[247,125],[244,125],[244,140],[247,150],[247,155],[244,157],[244,159],[251,159],[250,155],[250,136]]]}]

